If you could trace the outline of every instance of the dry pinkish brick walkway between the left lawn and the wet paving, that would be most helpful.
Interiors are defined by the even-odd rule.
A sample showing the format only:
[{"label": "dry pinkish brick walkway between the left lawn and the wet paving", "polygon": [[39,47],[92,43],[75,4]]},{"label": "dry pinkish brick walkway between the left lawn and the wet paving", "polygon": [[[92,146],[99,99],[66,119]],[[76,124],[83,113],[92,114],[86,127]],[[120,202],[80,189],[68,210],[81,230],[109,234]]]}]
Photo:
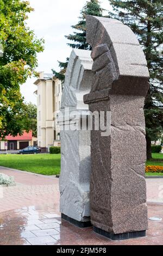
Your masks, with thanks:
[{"label": "dry pinkish brick walkway between the left lawn and the wet paving", "polygon": [[14,176],[17,183],[15,187],[4,187],[1,191],[0,212],[30,205],[53,206],[58,204],[59,185],[57,178],[2,167],[0,167],[0,173]]}]

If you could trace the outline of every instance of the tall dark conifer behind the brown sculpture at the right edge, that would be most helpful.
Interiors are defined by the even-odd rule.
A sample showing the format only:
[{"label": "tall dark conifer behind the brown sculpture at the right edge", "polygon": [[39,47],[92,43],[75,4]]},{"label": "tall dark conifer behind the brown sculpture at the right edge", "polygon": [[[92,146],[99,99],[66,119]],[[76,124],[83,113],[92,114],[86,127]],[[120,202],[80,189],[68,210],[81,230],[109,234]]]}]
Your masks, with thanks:
[{"label": "tall dark conifer behind the brown sculpture at the right edge", "polygon": [[110,17],[126,23],[136,34],[147,59],[150,88],[145,100],[147,159],[152,159],[151,140],[161,136],[163,127],[163,41],[162,0],[110,0]]}]

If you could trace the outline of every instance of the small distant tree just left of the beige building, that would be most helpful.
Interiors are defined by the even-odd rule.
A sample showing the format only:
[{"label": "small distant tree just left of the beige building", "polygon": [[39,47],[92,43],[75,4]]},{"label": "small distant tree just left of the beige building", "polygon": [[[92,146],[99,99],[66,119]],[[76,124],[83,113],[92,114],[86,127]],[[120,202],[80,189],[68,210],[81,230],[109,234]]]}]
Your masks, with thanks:
[{"label": "small distant tree just left of the beige building", "polygon": [[26,105],[24,127],[28,127],[28,130],[32,130],[33,136],[37,137],[37,106],[32,102]]}]

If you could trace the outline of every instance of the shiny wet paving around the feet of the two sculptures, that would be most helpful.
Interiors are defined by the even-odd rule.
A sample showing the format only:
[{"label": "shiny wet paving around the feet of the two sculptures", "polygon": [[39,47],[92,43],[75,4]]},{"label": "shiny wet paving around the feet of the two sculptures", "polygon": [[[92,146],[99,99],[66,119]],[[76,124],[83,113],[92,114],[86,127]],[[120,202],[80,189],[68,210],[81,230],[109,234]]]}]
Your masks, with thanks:
[{"label": "shiny wet paving around the feet of the two sculptures", "polygon": [[[163,218],[163,204],[148,203],[148,216]],[[30,206],[0,214],[0,245],[163,245],[163,221],[150,221],[146,237],[112,241],[61,220],[59,207]]]}]

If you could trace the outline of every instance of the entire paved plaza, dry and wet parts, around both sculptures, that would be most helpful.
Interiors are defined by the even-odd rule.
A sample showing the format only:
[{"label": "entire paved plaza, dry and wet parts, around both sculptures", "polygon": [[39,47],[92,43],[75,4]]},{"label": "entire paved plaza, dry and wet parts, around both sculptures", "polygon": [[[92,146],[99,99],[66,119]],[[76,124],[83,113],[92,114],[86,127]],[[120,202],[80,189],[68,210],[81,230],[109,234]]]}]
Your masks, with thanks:
[{"label": "entire paved plaza, dry and wet parts, around both sculptures", "polygon": [[[3,188],[0,198],[0,245],[163,245],[163,221],[149,221],[146,237],[111,241],[92,228],[61,221],[57,178],[7,168],[0,173],[17,182],[16,187]],[[163,218],[163,179],[146,181],[147,200],[156,202],[148,203],[148,217]]]}]

